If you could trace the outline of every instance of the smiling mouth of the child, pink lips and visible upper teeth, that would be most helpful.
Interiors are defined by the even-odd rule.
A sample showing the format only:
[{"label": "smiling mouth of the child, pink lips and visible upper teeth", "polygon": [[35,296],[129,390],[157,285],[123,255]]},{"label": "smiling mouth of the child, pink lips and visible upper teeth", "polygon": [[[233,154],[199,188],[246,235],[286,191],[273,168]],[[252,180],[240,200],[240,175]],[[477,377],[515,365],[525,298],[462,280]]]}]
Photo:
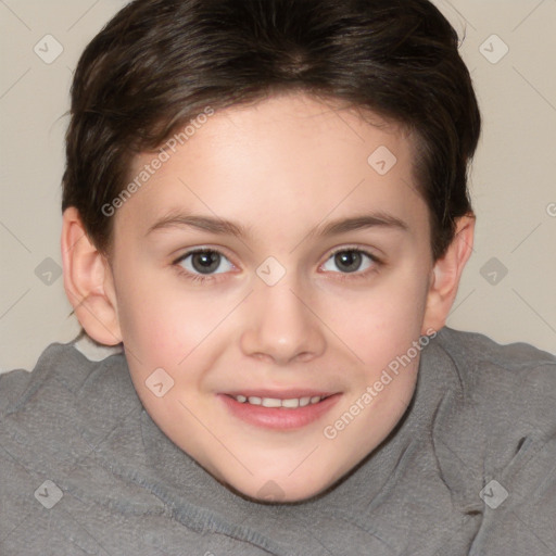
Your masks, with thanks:
[{"label": "smiling mouth of the child, pink lips and visible upper teeth", "polygon": [[320,419],[337,404],[341,393],[316,391],[244,391],[218,394],[236,418],[256,427],[300,429]]}]

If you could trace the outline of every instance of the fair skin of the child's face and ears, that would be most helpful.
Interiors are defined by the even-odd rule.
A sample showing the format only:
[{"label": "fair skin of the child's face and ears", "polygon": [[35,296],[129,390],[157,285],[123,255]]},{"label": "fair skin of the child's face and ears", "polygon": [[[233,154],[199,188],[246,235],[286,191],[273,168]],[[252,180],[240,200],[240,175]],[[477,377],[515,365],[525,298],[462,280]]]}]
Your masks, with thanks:
[{"label": "fair skin of the child's face and ears", "polygon": [[[268,481],[282,502],[317,495],[388,435],[413,396],[419,354],[333,439],[324,430],[414,341],[442,328],[471,252],[475,219],[466,216],[445,256],[432,260],[413,139],[369,115],[383,125],[301,93],[217,112],[112,216],[110,260],[84,235],[77,211],[64,213],[64,285],[83,327],[100,343],[123,342],[152,419],[251,498]],[[380,146],[397,159],[383,176],[367,163]],[[130,175],[152,159],[138,156]],[[247,235],[180,225],[148,232],[173,210],[233,220]],[[318,233],[371,213],[407,230]],[[191,279],[191,257],[176,262],[200,247],[224,255],[205,281]],[[362,255],[346,271],[339,249],[380,263]],[[286,271],[274,286],[256,274],[269,256]],[[162,397],[146,386],[156,368],[174,380]],[[315,422],[269,430],[230,415],[217,395],[247,388],[340,395]]]}]

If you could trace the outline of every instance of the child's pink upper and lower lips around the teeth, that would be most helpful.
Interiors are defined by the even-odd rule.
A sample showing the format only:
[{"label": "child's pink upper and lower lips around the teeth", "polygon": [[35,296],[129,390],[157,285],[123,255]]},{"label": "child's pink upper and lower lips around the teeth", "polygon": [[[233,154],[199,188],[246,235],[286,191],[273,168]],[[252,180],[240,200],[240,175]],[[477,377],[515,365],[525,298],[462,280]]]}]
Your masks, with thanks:
[{"label": "child's pink upper and lower lips around the teeth", "polygon": [[[312,395],[326,395],[325,400],[316,404],[306,405],[305,407],[287,408],[287,407],[263,407],[262,405],[251,405],[249,403],[238,402],[233,395],[258,396],[258,397],[277,397],[288,400],[291,397],[304,397]],[[292,430],[301,429],[315,422],[327,414],[340,400],[341,393],[323,393],[317,390],[243,390],[238,393],[217,394],[227,410],[238,419],[256,427],[273,430]]]}]

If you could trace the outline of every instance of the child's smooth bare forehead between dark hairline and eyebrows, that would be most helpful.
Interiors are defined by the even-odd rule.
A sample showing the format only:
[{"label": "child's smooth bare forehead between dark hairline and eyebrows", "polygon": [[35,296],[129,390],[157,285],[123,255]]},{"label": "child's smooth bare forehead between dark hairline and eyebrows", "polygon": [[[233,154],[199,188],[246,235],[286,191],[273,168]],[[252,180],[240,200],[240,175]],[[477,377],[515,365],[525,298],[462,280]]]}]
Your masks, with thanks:
[{"label": "child's smooth bare forehead between dark hairline and eyebrows", "polygon": [[[173,149],[163,146],[167,160],[125,203],[119,219],[144,227],[180,207],[255,227],[261,219],[308,225],[357,207],[419,217],[412,138],[371,112],[290,93],[202,122],[181,141],[176,136]],[[130,179],[157,155],[137,156]]]}]

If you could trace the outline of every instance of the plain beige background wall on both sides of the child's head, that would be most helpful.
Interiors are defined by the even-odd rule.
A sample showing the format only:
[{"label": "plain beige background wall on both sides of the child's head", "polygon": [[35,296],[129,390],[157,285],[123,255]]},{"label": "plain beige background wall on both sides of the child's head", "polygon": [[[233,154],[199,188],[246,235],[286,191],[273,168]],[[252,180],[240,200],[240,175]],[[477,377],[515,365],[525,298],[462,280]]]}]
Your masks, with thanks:
[{"label": "plain beige background wall on both sides of the child's head", "polygon": [[[484,125],[475,252],[448,326],[556,353],[556,0],[435,3],[465,34]],[[78,331],[56,274],[64,113],[80,52],[124,4],[0,0],[0,371]],[[47,35],[63,48],[51,63],[34,51],[56,53]]]}]

